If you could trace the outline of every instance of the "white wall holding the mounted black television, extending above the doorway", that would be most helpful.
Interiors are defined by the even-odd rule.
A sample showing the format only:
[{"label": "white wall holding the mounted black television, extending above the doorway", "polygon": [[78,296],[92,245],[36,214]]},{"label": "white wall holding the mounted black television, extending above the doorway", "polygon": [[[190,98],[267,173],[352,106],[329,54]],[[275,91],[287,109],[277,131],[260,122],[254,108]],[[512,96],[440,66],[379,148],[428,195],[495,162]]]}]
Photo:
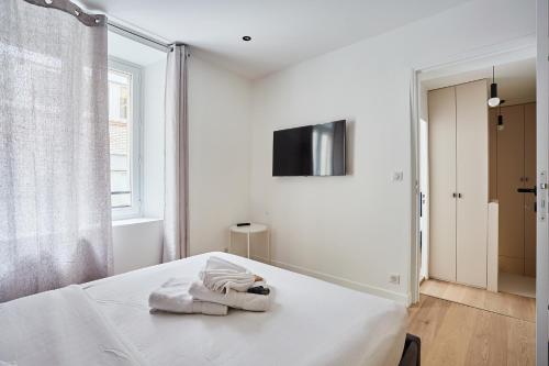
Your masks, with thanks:
[{"label": "white wall holding the mounted black television, extending above the doorway", "polygon": [[[255,82],[251,219],[271,225],[274,263],[406,301],[412,69],[531,36],[535,23],[533,0],[468,2]],[[341,118],[349,176],[271,177],[273,130]]]}]

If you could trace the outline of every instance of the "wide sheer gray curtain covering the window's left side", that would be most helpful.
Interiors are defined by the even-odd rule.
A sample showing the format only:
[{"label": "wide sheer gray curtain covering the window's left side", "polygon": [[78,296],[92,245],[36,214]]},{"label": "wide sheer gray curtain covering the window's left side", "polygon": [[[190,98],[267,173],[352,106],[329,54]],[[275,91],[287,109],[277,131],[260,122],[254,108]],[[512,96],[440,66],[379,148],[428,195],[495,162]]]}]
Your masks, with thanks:
[{"label": "wide sheer gray curtain covering the window's left side", "polygon": [[107,276],[104,18],[1,0],[0,67],[0,301]]}]

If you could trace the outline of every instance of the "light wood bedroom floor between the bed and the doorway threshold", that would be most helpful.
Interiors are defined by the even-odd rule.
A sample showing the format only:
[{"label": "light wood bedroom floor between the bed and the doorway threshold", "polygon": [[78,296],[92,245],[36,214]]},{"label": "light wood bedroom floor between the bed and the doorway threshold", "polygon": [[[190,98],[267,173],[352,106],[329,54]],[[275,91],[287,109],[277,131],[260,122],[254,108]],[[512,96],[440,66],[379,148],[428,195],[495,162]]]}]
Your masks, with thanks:
[{"label": "light wood bedroom floor between the bed and the doorway threshold", "polygon": [[422,339],[422,365],[535,365],[535,323],[421,295],[407,332]]}]

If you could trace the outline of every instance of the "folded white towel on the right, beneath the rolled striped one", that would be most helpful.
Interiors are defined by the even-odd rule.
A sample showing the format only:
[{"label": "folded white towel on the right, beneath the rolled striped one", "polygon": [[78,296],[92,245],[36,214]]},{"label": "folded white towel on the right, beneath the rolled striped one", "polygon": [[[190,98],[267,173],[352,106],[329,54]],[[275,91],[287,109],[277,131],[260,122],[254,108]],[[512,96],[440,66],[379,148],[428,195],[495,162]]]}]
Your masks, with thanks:
[{"label": "folded white towel on the right, beneath the rolled striped one", "polygon": [[270,306],[270,295],[239,292],[231,288],[223,293],[210,290],[201,281],[192,282],[189,293],[198,300],[223,303],[229,308],[249,311],[267,311]]}]

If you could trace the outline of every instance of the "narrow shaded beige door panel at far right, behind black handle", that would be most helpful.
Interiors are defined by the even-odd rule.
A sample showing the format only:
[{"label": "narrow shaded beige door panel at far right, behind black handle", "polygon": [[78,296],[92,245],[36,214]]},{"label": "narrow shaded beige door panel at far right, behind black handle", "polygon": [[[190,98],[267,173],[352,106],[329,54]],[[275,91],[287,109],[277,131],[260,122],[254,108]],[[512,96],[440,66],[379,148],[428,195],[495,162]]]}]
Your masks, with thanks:
[{"label": "narrow shaded beige door panel at far right, behind black handle", "polygon": [[[536,186],[536,103],[524,106],[524,186]],[[536,197],[524,195],[524,274],[536,277]]]}]

